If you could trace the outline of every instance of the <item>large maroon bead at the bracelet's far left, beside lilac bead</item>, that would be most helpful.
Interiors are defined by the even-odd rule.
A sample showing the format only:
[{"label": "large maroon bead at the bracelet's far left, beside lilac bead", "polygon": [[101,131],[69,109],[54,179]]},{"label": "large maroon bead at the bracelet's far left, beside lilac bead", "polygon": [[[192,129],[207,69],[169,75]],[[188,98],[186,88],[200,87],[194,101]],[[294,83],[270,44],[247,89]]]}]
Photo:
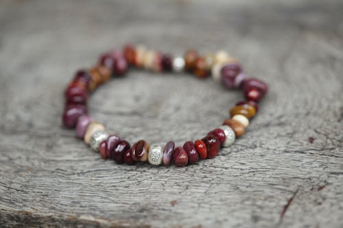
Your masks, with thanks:
[{"label": "large maroon bead at the bracelet's far left, beside lilac bead", "polygon": [[74,128],[79,116],[86,113],[86,105],[67,105],[62,115],[62,123],[65,127]]}]

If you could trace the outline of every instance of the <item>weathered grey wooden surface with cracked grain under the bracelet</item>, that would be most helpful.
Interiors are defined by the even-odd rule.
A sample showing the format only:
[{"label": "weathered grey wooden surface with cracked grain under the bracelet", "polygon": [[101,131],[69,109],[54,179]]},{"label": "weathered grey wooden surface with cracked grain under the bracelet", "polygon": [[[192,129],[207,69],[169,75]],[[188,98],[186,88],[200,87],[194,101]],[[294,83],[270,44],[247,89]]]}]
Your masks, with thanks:
[{"label": "weathered grey wooden surface with cracked grain under the bracelet", "polygon": [[[1,1],[1,227],[343,227],[342,1]],[[80,67],[131,41],[226,49],[270,92],[244,137],[187,168],[116,165],[61,127]],[[242,98],[134,71],[90,100],[130,142],[195,140]]]}]

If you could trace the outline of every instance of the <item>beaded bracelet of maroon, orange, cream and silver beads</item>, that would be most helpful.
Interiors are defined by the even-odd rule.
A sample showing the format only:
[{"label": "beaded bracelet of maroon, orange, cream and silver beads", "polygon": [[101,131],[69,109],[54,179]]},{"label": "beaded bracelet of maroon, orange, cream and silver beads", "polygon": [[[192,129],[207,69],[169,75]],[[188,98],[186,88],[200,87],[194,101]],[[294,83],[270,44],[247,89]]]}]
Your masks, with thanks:
[{"label": "beaded bracelet of maroon, orange, cream and silver beads", "polygon": [[[226,88],[241,88],[245,101],[239,101],[230,110],[231,118],[221,127],[209,131],[209,134],[195,142],[187,141],[182,147],[175,147],[174,142],[149,144],[139,140],[130,146],[115,134],[108,134],[104,125],[92,121],[88,116],[86,101],[88,92],[93,92],[111,77],[121,77],[128,68],[134,66],[155,72],[186,71],[196,77],[206,78],[210,74],[216,81],[221,81]],[[99,58],[99,63],[90,70],[78,71],[73,81],[64,91],[66,99],[62,122],[65,127],[76,128],[78,138],[84,139],[104,159],[113,159],[117,164],[132,165],[136,162],[149,162],[153,165],[170,165],[182,167],[194,164],[198,160],[215,157],[220,147],[229,147],[235,138],[244,134],[249,119],[258,111],[258,102],[268,90],[268,86],[259,79],[247,78],[241,64],[225,51],[201,56],[190,50],[183,57],[163,55],[158,51],[147,50],[144,46],[126,45],[123,51],[109,51]]]}]

